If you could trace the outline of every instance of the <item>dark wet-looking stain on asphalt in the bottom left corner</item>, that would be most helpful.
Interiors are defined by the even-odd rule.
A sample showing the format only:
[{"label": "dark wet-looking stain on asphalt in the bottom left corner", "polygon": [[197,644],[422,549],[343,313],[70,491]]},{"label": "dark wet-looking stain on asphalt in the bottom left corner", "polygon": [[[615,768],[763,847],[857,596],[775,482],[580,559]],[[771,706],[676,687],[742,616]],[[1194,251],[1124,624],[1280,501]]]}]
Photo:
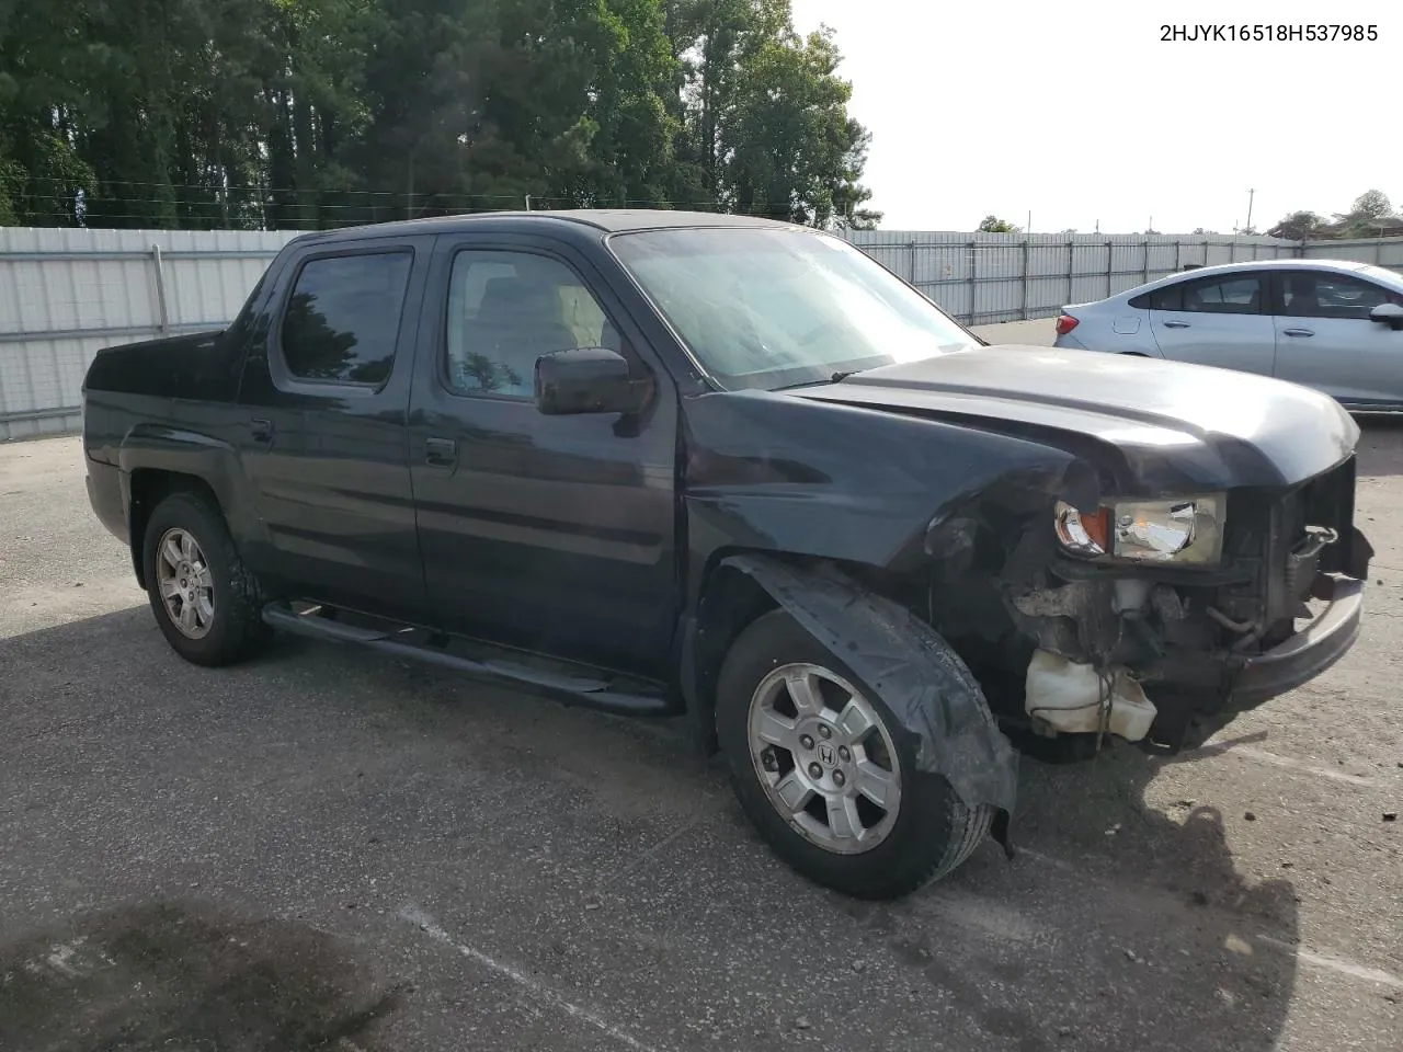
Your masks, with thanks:
[{"label": "dark wet-looking stain on asphalt in the bottom left corner", "polygon": [[331,936],[205,905],[88,913],[0,945],[0,1049],[370,1052],[400,997]]}]

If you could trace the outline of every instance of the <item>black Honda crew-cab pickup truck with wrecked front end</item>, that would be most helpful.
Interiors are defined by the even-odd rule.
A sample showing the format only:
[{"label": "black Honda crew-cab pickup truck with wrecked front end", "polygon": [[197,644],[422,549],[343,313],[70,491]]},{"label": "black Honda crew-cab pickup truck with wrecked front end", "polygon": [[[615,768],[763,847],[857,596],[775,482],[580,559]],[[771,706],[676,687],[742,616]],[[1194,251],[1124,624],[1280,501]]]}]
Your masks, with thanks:
[{"label": "black Honda crew-cab pickup truck with wrecked front end", "polygon": [[685,715],[770,844],[897,896],[1017,750],[1179,749],[1358,634],[1358,428],[1303,387],[988,346],[846,241],[675,212],[299,237],[102,351],[93,508],[171,647],[269,628]]}]

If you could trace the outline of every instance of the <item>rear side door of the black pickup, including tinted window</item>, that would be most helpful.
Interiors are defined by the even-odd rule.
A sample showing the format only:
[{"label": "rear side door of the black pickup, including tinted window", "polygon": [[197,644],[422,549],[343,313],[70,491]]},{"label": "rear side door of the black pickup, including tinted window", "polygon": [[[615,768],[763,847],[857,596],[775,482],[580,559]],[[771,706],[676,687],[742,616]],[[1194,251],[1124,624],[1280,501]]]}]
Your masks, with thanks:
[{"label": "rear side door of the black pickup, including tinted window", "polygon": [[313,243],[289,261],[246,359],[244,467],[297,598],[424,616],[410,379],[431,237]]}]

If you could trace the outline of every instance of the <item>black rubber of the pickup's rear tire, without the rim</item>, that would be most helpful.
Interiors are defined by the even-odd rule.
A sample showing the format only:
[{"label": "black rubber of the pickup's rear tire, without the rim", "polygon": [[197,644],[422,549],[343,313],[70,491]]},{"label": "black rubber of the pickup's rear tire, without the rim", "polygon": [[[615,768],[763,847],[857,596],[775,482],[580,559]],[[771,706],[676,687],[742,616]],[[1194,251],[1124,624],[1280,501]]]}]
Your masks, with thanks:
[{"label": "black rubber of the pickup's rear tire, without the rim", "polygon": [[[160,595],[157,557],[161,537],[168,530],[185,530],[199,544],[213,576],[215,619],[198,640],[185,635],[171,620]],[[247,612],[243,596],[236,595],[236,575],[243,575],[223,518],[194,494],[171,494],[152,512],[142,539],[142,571],[156,623],[171,648],[196,665],[224,665],[241,656],[247,645]]]}]

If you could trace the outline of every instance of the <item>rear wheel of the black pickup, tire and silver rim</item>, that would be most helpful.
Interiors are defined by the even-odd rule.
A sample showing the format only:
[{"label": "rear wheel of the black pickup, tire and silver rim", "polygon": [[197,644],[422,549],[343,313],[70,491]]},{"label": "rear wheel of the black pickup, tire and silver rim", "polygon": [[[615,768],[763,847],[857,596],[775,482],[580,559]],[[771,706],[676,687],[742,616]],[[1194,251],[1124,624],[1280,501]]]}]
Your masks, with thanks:
[{"label": "rear wheel of the black pickup, tire and silver rim", "polygon": [[[194,547],[185,547],[185,539]],[[170,544],[174,550],[163,553]],[[231,665],[268,638],[258,581],[240,558],[223,516],[199,494],[174,492],[152,511],[142,536],[142,568],[156,623],[185,661]],[[167,586],[185,591],[167,603]],[[194,628],[181,624],[178,612],[187,609]]]}]

